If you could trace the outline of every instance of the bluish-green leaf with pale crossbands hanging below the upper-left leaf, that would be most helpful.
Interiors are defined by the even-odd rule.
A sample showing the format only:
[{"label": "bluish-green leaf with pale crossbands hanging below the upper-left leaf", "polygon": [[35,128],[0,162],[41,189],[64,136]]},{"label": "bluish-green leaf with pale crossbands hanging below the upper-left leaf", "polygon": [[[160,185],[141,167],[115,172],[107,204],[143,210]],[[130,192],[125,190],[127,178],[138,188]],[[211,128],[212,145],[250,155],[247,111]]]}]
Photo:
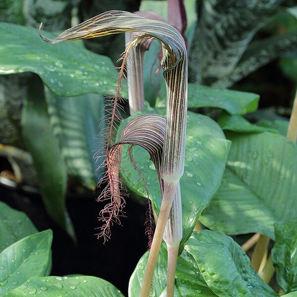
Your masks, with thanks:
[{"label": "bluish-green leaf with pale crossbands hanging below the upper-left leaf", "polygon": [[[99,165],[93,156],[99,147],[96,136],[99,135],[99,123],[104,116],[103,97],[88,94],[62,98],[47,88],[45,94],[53,134],[58,139],[68,174],[85,187],[95,190],[95,171]],[[100,140],[103,141],[102,136]]]}]

